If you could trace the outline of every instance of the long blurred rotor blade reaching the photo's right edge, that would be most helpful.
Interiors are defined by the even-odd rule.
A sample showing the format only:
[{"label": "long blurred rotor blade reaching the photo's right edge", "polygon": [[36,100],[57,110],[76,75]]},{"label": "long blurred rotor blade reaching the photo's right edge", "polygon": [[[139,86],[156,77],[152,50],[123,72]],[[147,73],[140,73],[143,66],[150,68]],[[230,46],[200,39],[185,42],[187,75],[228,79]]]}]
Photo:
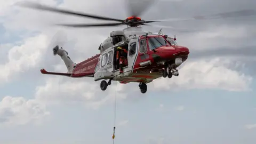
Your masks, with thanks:
[{"label": "long blurred rotor blade reaching the photo's right edge", "polygon": [[225,12],[225,13],[218,13],[218,14],[212,14],[212,15],[202,15],[202,16],[198,15],[192,18],[174,18],[174,19],[164,19],[164,20],[156,20],[156,21],[206,20],[206,19],[248,17],[252,15],[256,15],[255,10],[241,10],[241,11]]}]

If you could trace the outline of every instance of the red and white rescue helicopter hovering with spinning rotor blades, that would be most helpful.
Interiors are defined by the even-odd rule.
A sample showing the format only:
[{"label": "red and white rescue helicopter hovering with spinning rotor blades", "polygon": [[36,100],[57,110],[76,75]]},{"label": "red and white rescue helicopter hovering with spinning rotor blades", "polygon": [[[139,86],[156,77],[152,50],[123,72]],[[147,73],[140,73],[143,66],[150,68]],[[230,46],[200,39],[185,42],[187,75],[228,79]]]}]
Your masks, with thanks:
[{"label": "red and white rescue helicopter hovering with spinning rotor blades", "polygon": [[[80,24],[80,25],[61,25],[69,27],[103,27],[127,25],[123,30],[115,30],[110,32],[110,37],[106,38],[100,46],[100,54],[74,63],[68,56],[68,52],[58,45],[53,48],[53,54],[60,55],[61,59],[67,66],[67,73],[54,73],[41,69],[42,74],[61,75],[68,77],[94,77],[94,81],[101,81],[100,88],[102,91],[107,89],[111,81],[118,81],[126,84],[130,82],[139,83],[141,93],[147,92],[147,83],[152,82],[156,78],[178,76],[179,67],[187,60],[189,49],[185,46],[178,45],[174,38],[161,34],[142,31],[141,25],[156,21],[145,21],[138,17],[138,12],[133,13],[132,17],[125,20],[101,17],[98,15],[73,12],[69,10],[56,9],[50,6],[39,5],[35,3],[26,3],[22,6],[39,9],[44,11],[58,12],[62,14],[71,14],[93,19],[118,21],[116,23],[101,24]],[[228,13],[219,13],[208,15],[208,17],[194,17],[180,20],[197,20],[197,19],[217,19],[229,18],[237,16],[248,16],[255,14],[255,11],[245,10]],[[177,21],[172,19],[167,21]],[[166,20],[164,20],[166,21]],[[127,66],[124,67],[123,73],[119,74],[119,63],[115,61],[117,47],[122,46],[128,51]],[[108,82],[105,80],[108,79]]]}]

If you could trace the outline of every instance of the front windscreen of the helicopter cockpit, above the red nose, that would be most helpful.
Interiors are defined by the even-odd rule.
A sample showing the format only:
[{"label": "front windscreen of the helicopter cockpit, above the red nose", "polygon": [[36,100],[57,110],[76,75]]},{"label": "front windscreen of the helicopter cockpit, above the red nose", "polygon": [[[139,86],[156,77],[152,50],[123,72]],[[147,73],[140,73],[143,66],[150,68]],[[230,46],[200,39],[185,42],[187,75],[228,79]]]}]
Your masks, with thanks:
[{"label": "front windscreen of the helicopter cockpit, above the red nose", "polygon": [[157,49],[161,46],[170,46],[170,44],[162,36],[149,37],[148,45],[150,50]]}]

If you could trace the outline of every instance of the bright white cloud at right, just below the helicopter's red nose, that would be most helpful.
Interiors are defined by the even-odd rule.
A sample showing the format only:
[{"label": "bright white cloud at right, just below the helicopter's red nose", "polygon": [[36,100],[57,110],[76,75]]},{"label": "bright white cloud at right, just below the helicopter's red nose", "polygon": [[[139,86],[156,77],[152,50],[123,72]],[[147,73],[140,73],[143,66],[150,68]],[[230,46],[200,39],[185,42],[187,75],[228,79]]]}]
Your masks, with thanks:
[{"label": "bright white cloud at right, just below the helicopter's red nose", "polygon": [[[214,58],[209,61],[188,60],[179,70],[178,77],[161,78],[153,82],[158,90],[170,89],[221,89],[228,91],[247,91],[252,81],[251,76],[228,68],[231,60]],[[153,89],[153,88],[152,88]]]}]

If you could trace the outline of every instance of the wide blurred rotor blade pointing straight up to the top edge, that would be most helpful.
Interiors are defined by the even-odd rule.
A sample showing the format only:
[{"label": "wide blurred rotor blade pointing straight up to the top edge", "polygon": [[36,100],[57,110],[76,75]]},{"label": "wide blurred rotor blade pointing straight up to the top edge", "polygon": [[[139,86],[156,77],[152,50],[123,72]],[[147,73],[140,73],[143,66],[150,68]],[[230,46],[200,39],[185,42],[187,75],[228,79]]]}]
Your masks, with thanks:
[{"label": "wide blurred rotor blade pointing straight up to the top edge", "polygon": [[156,0],[125,0],[129,12],[129,15],[127,16],[139,17],[146,12],[155,1]]}]

